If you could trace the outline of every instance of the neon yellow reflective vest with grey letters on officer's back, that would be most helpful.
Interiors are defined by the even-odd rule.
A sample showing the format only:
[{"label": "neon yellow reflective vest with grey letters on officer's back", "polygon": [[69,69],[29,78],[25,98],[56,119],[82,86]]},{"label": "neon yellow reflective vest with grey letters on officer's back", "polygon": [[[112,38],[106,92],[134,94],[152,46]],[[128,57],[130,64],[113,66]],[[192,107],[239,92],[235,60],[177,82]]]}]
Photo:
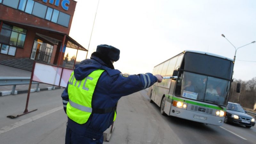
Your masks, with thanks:
[{"label": "neon yellow reflective vest with grey letters on officer's back", "polygon": [[[68,81],[67,115],[78,124],[85,124],[92,114],[92,96],[100,75],[104,72],[97,69],[83,80],[76,80],[74,71]],[[103,109],[104,110],[104,109]],[[116,119],[116,111],[114,121]]]}]

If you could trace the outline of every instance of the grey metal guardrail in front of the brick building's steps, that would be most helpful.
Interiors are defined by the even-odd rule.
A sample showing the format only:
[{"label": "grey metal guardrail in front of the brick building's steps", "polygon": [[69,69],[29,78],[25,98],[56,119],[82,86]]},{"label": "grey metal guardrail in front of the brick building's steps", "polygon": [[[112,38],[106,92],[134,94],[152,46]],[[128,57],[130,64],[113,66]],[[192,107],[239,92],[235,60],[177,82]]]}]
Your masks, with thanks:
[{"label": "grey metal guardrail in front of the brick building's steps", "polygon": [[[15,93],[16,85],[21,84],[29,84],[30,77],[9,77],[9,76],[0,76],[0,86],[5,85],[13,85],[12,86],[12,92],[13,95]],[[32,82],[32,84],[36,84],[36,92],[39,92],[39,84],[38,82]]]}]

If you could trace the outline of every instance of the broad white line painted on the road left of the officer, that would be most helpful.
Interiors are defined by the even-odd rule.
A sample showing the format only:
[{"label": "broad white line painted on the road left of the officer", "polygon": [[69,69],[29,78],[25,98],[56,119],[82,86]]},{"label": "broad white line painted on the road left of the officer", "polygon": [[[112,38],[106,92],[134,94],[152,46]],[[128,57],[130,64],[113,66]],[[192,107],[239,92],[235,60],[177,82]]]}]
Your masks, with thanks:
[{"label": "broad white line painted on the road left of the officer", "polygon": [[0,128],[0,134],[1,134],[1,133],[4,133],[4,132],[8,132],[8,131],[10,131],[10,130],[12,130],[12,129],[15,129],[15,128],[17,128],[17,127],[20,127],[21,125],[28,124],[28,123],[30,123],[30,122],[32,122],[32,121],[34,121],[34,120],[37,120],[37,119],[39,119],[39,118],[41,118],[41,117],[43,117],[43,116],[47,116],[47,115],[49,115],[49,114],[51,114],[51,113],[54,113],[54,112],[56,112],[56,111],[58,111],[58,110],[60,110],[60,109],[62,109],[62,108],[63,108],[63,106],[60,106],[60,107],[57,107],[57,108],[53,108],[53,109],[51,109],[51,110],[48,110],[48,111],[43,112],[43,113],[41,113],[41,114],[38,114],[38,115],[36,115],[36,116],[29,117],[29,118],[27,118],[27,119],[18,121],[18,122],[16,122],[16,123],[11,124],[11,125],[8,125],[8,126],[4,126],[4,127]]}]

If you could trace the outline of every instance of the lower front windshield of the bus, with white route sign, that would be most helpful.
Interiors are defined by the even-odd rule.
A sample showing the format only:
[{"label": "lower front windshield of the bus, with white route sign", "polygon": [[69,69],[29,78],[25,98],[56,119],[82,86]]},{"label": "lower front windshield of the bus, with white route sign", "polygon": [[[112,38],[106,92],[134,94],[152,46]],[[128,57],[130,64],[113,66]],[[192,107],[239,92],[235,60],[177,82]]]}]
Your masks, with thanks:
[{"label": "lower front windshield of the bus, with white route sign", "polygon": [[230,81],[227,80],[181,71],[177,80],[175,95],[226,106],[229,86]]}]

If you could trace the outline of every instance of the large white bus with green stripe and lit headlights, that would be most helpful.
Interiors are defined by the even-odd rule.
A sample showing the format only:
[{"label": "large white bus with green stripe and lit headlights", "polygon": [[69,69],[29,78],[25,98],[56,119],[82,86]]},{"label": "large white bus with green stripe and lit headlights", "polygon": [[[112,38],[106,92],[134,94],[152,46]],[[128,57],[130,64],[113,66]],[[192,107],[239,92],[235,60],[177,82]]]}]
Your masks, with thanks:
[{"label": "large white bus with green stripe and lit headlights", "polygon": [[178,76],[148,89],[162,115],[221,126],[232,82],[233,60],[196,51],[184,51],[153,69],[153,74]]}]

